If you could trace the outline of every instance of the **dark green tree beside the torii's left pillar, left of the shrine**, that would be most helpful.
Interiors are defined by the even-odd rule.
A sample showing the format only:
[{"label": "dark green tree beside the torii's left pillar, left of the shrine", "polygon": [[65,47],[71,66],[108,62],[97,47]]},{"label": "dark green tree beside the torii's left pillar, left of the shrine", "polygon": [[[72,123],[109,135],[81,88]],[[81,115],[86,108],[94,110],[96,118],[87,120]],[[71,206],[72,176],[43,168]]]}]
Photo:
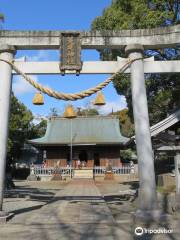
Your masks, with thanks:
[{"label": "dark green tree beside the torii's left pillar, left of the shrine", "polygon": [[16,160],[20,156],[24,143],[31,138],[44,134],[46,122],[33,124],[33,115],[27,107],[18,101],[12,93],[9,120],[8,160]]}]

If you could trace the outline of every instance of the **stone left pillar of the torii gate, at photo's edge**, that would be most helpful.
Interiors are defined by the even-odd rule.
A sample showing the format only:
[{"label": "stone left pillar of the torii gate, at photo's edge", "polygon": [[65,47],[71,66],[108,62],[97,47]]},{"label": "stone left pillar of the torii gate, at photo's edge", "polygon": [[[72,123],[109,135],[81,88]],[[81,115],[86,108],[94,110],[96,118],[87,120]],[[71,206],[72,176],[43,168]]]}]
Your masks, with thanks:
[{"label": "stone left pillar of the torii gate, at photo's edge", "polygon": [[[13,46],[0,45],[0,59],[12,61],[15,54]],[[10,95],[12,85],[12,68],[8,63],[0,61],[0,216],[6,215],[2,211],[8,125],[9,125],[9,109]]]}]

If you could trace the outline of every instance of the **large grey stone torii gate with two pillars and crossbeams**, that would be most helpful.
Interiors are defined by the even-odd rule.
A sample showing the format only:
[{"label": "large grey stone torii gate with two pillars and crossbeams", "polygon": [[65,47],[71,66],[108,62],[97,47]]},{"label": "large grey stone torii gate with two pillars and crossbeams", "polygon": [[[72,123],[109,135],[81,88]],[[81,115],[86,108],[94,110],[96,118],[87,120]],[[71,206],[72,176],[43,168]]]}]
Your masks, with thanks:
[{"label": "large grey stone torii gate with two pillars and crossbeams", "polygon": [[[76,32],[74,32],[76,33]],[[145,73],[180,72],[180,61],[143,60],[145,49],[175,47],[180,42],[180,25],[158,29],[80,32],[82,49],[123,49],[131,60],[131,88],[136,132],[139,168],[139,206],[137,215],[154,218],[159,214],[156,197],[154,160],[151,145],[147,107]],[[59,49],[62,42],[60,31],[0,31],[0,59],[12,62],[17,50]],[[81,74],[112,74],[120,69],[127,59],[117,61],[84,62]],[[16,62],[25,74],[59,74],[59,62]],[[71,69],[67,74],[74,73]],[[8,119],[11,93],[12,66],[0,61],[0,216],[3,212],[3,189],[8,138]]]}]

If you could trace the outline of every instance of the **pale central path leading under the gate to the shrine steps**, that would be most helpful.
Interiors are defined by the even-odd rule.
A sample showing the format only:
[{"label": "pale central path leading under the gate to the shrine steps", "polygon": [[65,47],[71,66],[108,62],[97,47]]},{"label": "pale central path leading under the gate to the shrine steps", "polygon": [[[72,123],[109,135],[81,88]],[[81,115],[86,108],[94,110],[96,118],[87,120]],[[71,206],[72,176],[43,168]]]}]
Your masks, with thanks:
[{"label": "pale central path leading under the gate to the shrine steps", "polygon": [[1,225],[0,239],[132,239],[126,226],[117,226],[94,181],[74,180],[40,209],[17,215]]}]

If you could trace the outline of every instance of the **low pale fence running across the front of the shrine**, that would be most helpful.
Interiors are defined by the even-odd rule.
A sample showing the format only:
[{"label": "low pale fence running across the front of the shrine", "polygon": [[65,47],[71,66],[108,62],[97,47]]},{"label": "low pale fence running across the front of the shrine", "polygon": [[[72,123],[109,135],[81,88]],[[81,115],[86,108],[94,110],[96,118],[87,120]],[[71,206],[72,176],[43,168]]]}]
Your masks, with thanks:
[{"label": "low pale fence running across the front of the shrine", "polygon": [[[74,169],[71,167],[45,167],[43,165],[34,165],[31,167],[31,174],[36,176],[52,176],[54,174],[61,174],[62,176],[71,176],[73,175]],[[130,164],[124,164],[121,167],[112,167],[112,171],[116,175],[130,174],[133,172]],[[97,167],[93,168],[94,176],[104,175],[106,173],[106,167]]]}]

